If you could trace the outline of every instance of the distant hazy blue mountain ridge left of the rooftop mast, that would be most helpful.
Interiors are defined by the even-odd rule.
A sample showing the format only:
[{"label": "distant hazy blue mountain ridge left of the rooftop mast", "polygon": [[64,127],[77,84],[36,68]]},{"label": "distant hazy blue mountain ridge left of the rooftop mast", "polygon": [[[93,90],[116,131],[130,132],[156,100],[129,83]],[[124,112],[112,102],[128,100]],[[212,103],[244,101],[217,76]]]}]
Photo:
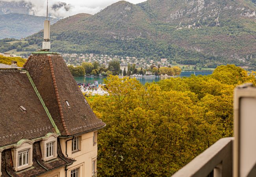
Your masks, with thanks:
[{"label": "distant hazy blue mountain ridge left of the rooftop mast", "polygon": [[[0,15],[0,39],[27,37],[43,29],[45,17],[7,13]],[[51,24],[58,19],[51,18]]]}]

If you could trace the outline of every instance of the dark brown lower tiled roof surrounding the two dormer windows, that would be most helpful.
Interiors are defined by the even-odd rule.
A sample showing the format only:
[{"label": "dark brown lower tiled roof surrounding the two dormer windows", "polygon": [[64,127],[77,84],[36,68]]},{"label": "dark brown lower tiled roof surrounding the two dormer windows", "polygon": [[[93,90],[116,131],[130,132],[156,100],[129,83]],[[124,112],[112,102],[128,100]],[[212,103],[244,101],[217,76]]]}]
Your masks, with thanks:
[{"label": "dark brown lower tiled roof surrounding the two dormer windows", "polygon": [[[4,150],[2,152],[2,176],[9,176],[8,173],[13,177],[34,177],[46,173],[48,171],[60,168],[67,164],[75,162],[75,160],[65,157],[61,152],[61,146],[58,140],[57,144],[58,157],[56,159],[44,162],[42,159],[42,153],[39,142],[33,144],[33,167],[26,170],[15,172],[13,170],[13,159],[11,156],[11,149]],[[43,168],[43,167],[44,168]],[[47,169],[47,170],[46,170]]]}]

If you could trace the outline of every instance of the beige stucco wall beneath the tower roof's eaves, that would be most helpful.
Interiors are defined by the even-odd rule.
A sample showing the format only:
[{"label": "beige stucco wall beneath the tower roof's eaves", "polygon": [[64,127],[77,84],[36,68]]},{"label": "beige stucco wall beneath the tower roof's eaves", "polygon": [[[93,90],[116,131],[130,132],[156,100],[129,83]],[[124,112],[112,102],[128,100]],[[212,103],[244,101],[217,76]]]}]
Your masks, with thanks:
[{"label": "beige stucco wall beneath the tower roof's eaves", "polygon": [[[76,160],[72,165],[68,166],[68,175],[70,176],[70,170],[80,168],[80,177],[92,176],[92,159],[97,157],[97,143],[93,144],[93,132],[86,133],[80,136],[81,144],[80,151],[72,153],[72,141],[67,142],[67,154]],[[61,150],[66,155],[66,140],[72,138],[60,138]],[[95,138],[97,140],[97,137]]]}]

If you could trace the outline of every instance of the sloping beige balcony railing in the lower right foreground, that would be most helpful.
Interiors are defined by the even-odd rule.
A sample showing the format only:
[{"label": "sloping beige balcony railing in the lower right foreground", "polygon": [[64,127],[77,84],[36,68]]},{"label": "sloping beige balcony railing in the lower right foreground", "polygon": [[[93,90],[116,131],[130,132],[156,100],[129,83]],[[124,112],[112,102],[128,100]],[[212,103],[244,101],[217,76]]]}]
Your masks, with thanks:
[{"label": "sloping beige balcony railing in the lower right foreground", "polygon": [[222,138],[172,177],[232,177],[234,138]]}]

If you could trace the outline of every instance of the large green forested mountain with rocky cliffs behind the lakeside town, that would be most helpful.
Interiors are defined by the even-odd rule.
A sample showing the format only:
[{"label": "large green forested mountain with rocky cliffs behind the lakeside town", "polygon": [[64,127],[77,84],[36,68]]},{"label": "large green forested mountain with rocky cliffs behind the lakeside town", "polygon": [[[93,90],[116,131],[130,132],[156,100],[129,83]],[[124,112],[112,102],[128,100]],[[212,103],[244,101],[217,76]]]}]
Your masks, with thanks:
[{"label": "large green forested mountain with rocky cliffs behind the lakeside town", "polygon": [[[120,1],[95,15],[75,15],[52,25],[52,50],[255,69],[255,11],[252,0]],[[42,37],[40,31],[27,40],[41,45]]]}]

